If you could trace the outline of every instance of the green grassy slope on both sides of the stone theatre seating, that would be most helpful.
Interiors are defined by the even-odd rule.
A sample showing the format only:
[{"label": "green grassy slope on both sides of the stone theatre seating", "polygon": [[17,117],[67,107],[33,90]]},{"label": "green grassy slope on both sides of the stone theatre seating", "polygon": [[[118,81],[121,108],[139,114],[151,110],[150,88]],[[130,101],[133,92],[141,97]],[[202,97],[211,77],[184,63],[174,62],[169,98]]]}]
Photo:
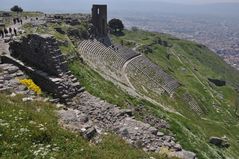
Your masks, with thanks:
[{"label": "green grassy slope on both sides of the stone theatre seating", "polygon": [[[61,24],[58,27],[67,29],[68,26]],[[53,27],[48,28],[59,40],[72,39],[68,35],[55,32]],[[45,32],[45,29],[38,31]],[[238,158],[239,117],[235,111],[239,96],[235,88],[239,82],[239,73],[236,70],[206,47],[170,35],[139,30],[124,31],[123,36],[112,35],[111,38],[116,43],[137,47],[141,51],[144,46],[151,50],[145,51],[145,55],[181,83],[173,97],[151,94],[151,98],[181,115],[165,112],[158,105],[131,97],[80,60],[75,60],[70,64],[70,69],[87,91],[124,108],[144,105],[150,113],[166,119],[175,138],[185,149],[197,153],[200,159]],[[76,50],[77,46],[74,44],[76,42],[72,41],[63,48],[65,54],[72,54],[67,50]],[[209,82],[208,78],[226,80],[227,84],[218,87]],[[190,104],[184,100],[185,94],[196,102],[202,110],[200,114],[192,110]],[[137,118],[140,119],[140,116]],[[223,149],[211,145],[208,143],[211,136],[226,136],[231,146]]]}]

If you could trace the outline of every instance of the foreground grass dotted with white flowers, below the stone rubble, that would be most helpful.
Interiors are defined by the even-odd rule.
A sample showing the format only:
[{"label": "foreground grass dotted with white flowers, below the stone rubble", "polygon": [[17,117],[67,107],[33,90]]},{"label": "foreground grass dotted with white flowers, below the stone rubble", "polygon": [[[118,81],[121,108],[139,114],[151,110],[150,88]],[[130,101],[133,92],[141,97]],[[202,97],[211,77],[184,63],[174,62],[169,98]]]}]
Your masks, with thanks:
[{"label": "foreground grass dotted with white flowers, below the stone rubble", "polygon": [[94,145],[58,124],[55,106],[22,102],[21,96],[0,94],[0,158],[138,159],[164,155],[146,154],[115,135],[105,135]]}]

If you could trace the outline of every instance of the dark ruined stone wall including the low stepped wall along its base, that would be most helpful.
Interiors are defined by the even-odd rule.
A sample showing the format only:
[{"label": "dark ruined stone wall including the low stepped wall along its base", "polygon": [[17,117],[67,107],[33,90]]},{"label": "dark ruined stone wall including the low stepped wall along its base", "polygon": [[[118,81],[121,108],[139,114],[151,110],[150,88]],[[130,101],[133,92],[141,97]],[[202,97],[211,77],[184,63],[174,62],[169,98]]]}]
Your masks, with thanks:
[{"label": "dark ruined stone wall including the low stepped wall along its base", "polygon": [[68,70],[57,41],[51,36],[31,34],[10,44],[11,55],[3,56],[3,63],[11,63],[23,70],[45,92],[61,102],[71,99],[84,88]]}]

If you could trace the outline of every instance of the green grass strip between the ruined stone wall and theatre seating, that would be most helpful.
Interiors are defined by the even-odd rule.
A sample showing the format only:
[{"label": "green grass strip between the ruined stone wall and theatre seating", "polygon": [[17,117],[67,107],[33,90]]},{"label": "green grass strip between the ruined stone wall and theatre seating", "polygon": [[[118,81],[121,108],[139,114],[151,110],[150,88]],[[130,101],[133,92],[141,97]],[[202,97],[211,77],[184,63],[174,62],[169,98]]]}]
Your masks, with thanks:
[{"label": "green grass strip between the ruined stone wall and theatre seating", "polygon": [[138,99],[129,96],[112,82],[105,80],[86,64],[74,61],[70,64],[70,70],[92,95],[100,97],[107,102],[116,104],[122,108],[140,104]]}]

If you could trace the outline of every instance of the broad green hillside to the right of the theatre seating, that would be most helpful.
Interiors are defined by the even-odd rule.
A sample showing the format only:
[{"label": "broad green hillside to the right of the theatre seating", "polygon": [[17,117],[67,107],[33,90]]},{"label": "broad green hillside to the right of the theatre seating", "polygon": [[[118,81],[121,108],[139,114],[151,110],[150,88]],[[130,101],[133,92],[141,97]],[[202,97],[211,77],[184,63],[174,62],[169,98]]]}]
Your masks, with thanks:
[{"label": "broad green hillside to the right of the theatre seating", "polygon": [[[184,117],[170,114],[172,131],[185,147],[196,150],[200,158],[237,158],[239,155],[239,118],[235,114],[238,93],[235,88],[239,82],[239,72],[226,64],[205,46],[180,40],[170,35],[146,31],[125,31],[123,36],[112,36],[116,43],[133,42],[135,46],[152,49],[145,55],[176,78],[181,88],[173,98],[161,96],[165,105],[172,106]],[[167,46],[159,44],[166,41]],[[208,78],[226,80],[227,85],[217,87]],[[190,94],[202,109],[198,115],[190,105],[182,100]],[[210,136],[227,136],[229,149],[218,149],[208,144]]]}]

